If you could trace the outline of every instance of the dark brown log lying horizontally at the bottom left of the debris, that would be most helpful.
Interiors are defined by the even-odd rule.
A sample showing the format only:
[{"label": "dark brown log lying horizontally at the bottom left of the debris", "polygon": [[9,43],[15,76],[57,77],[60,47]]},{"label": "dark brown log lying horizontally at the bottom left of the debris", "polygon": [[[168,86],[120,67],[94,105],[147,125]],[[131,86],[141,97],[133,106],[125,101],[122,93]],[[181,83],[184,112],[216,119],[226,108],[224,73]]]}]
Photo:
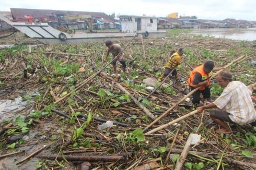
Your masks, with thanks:
[{"label": "dark brown log lying horizontally at the bottom left of the debris", "polygon": [[97,162],[97,161],[123,161],[124,156],[120,155],[39,155],[38,157],[42,159],[50,159],[50,160],[64,160],[63,157],[67,161],[89,161],[89,162]]}]

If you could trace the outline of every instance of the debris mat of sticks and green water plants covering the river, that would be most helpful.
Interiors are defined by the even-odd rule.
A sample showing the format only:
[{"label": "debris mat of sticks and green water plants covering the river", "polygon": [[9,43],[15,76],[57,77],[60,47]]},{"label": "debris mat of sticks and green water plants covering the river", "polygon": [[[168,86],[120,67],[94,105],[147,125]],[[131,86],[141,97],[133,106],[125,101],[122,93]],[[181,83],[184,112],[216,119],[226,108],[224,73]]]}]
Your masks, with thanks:
[{"label": "debris mat of sticks and green water plants covering the river", "polygon": [[[144,39],[143,42],[141,39],[134,40],[124,51],[130,74],[124,75],[118,65],[121,78],[114,81],[156,117],[185,95],[191,68],[203,64],[207,59],[214,60],[216,66],[225,66],[235,58],[248,55],[247,59],[232,65],[228,70],[235,80],[247,85],[255,82],[256,70],[251,64],[256,60],[255,41],[191,38],[188,34],[186,36],[185,31],[188,30],[170,30],[165,39]],[[122,47],[129,43],[115,42]],[[160,88],[146,100],[150,92],[145,89],[143,80],[157,79],[161,75],[162,66],[169,59],[170,51],[180,47],[185,50],[183,63],[177,68],[182,81],[178,85],[168,80],[168,88]],[[0,153],[17,153],[0,160],[0,166],[12,169],[78,169],[85,161],[55,161],[50,156],[55,158],[57,155],[83,155],[90,158],[87,159],[91,164],[90,169],[132,169],[141,165],[174,169],[180,155],[178,151],[183,149],[189,134],[199,128],[202,115],[195,114],[182,120],[177,126],[170,126],[153,135],[145,135],[138,129],[144,129],[152,119],[129,95],[120,90],[120,86],[113,83],[110,76],[96,76],[79,90],[72,92],[95,74],[98,68],[106,65],[102,63],[106,52],[107,48],[103,42],[0,48],[0,98],[14,100],[21,96],[22,100],[28,103],[22,110],[5,113],[14,115],[13,117],[1,119]],[[108,62],[110,61],[111,57],[108,58]],[[85,71],[78,72],[80,67],[84,67]],[[112,75],[112,66],[108,66],[104,72]],[[222,90],[216,84],[212,84],[212,87],[211,101],[216,99]],[[38,93],[32,95],[32,91]],[[69,92],[71,95],[57,102]],[[161,121],[168,123],[194,109],[195,106],[184,101]],[[217,135],[214,130],[218,129],[218,126],[212,123],[208,113],[204,113],[203,125],[199,130],[202,140],[191,147],[190,150],[196,152],[187,156],[185,167],[216,169],[218,164],[235,169],[253,167],[256,164],[255,127],[230,124],[232,135]],[[99,125],[103,124],[99,118],[103,119],[103,122],[111,120],[114,124],[111,128],[99,130]],[[174,136],[177,138],[173,152],[164,166]],[[40,149],[43,149],[40,153],[16,165]],[[40,159],[43,154],[48,155],[48,158]],[[102,156],[105,156],[105,159]],[[111,157],[111,160],[109,156],[116,157]],[[152,162],[148,162],[149,160]]]}]

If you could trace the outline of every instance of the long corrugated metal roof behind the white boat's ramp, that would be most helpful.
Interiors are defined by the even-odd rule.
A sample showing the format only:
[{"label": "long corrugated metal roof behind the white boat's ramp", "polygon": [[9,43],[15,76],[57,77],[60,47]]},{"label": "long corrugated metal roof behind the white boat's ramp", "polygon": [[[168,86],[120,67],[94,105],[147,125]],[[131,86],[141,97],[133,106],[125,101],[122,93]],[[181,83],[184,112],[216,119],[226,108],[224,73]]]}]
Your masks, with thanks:
[{"label": "long corrugated metal roof behind the white boat's ramp", "polygon": [[114,19],[105,13],[87,12],[87,11],[71,11],[71,10],[52,10],[52,9],[24,9],[24,8],[10,8],[13,18],[17,21],[26,21],[25,15],[30,15],[34,19],[42,20],[43,18],[50,18],[53,15],[91,15],[95,18],[103,18],[108,22],[114,22]]}]

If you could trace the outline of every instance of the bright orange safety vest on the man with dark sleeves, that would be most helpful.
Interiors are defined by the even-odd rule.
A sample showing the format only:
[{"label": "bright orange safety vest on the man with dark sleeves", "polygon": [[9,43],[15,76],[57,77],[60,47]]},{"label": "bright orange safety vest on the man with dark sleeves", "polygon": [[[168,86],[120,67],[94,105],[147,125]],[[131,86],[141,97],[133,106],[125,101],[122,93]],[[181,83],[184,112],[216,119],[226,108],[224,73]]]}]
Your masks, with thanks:
[{"label": "bright orange safety vest on the man with dark sleeves", "polygon": [[[193,71],[190,72],[190,76],[189,76],[189,79],[188,79],[189,86],[194,85],[193,84],[193,79],[194,79],[195,72],[199,72],[199,74],[201,74],[201,76],[202,76],[201,80],[202,81],[205,81],[205,80],[209,79],[213,75],[213,71],[211,71],[209,74],[206,74],[204,72],[204,65],[196,67],[195,69],[193,69]],[[208,83],[205,86],[201,87],[199,90],[204,90],[205,87],[209,86],[209,84],[210,84],[210,81],[208,81]]]}]

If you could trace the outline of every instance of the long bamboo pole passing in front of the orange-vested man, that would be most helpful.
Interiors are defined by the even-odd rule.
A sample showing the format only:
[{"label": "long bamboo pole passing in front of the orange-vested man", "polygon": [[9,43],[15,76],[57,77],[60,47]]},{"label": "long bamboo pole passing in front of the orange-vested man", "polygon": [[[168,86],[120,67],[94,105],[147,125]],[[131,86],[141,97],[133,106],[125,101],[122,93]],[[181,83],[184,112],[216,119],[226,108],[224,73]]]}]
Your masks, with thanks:
[{"label": "long bamboo pole passing in front of the orange-vested man", "polygon": [[[235,60],[233,60],[231,63],[229,63],[228,65],[224,66],[223,69],[220,69],[219,71],[217,71],[211,78],[216,77],[220,71],[225,70],[226,68],[228,68],[229,66],[231,66],[232,64],[238,62],[241,59],[246,59],[248,56],[241,56]],[[166,116],[170,111],[173,110],[174,107],[176,107],[178,104],[180,104],[181,102],[183,102],[185,99],[187,99],[190,95],[192,95],[195,91],[197,91],[198,89],[200,89],[201,87],[197,87],[194,90],[192,90],[189,94],[185,95],[182,99],[180,99],[177,103],[175,103],[173,106],[171,106],[165,113],[161,114],[161,116],[159,116],[157,119],[155,119],[152,123],[150,123],[146,128],[143,129],[143,131],[146,131],[149,127],[151,127],[152,125],[154,125],[155,123],[157,123],[162,117]]]}]

